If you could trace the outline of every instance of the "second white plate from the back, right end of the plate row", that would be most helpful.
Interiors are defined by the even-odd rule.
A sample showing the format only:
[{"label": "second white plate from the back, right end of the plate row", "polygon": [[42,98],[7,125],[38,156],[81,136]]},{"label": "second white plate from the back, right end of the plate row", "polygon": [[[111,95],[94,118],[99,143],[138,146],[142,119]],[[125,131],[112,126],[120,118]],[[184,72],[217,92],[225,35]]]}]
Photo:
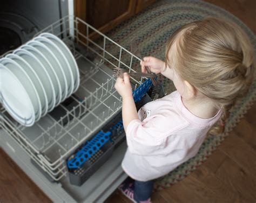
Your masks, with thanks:
[{"label": "second white plate from the back, right end of the plate row", "polygon": [[69,97],[72,94],[73,87],[74,87],[74,78],[73,78],[73,73],[71,71],[71,67],[68,63],[68,60],[65,58],[63,55],[62,51],[56,46],[53,42],[51,42],[50,39],[46,37],[36,37],[34,40],[42,42],[44,45],[48,46],[48,48],[53,52],[53,54],[56,56],[58,59],[60,65],[62,66],[66,80],[68,82],[68,95]]}]

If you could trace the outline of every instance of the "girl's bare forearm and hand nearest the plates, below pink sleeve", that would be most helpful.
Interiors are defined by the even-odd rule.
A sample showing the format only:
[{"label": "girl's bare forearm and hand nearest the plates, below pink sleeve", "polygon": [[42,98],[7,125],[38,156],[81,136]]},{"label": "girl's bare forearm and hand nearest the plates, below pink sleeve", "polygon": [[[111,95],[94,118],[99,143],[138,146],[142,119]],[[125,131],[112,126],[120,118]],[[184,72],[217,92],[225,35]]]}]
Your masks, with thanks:
[{"label": "girl's bare forearm and hand nearest the plates, below pink sleeve", "polygon": [[126,132],[127,126],[134,119],[139,119],[136,105],[132,96],[132,86],[130,83],[130,77],[127,73],[124,73],[123,78],[117,78],[116,84],[114,84],[117,92],[122,96],[122,118],[124,124],[124,130]]}]

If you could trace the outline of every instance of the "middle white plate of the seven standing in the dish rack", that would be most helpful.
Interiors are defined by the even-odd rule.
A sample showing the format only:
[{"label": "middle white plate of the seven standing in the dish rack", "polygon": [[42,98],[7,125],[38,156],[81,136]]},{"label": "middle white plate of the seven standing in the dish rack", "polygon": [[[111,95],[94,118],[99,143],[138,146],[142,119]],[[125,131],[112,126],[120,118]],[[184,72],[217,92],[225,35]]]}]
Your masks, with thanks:
[{"label": "middle white plate of the seven standing in the dish rack", "polygon": [[[39,60],[39,62],[42,63],[42,66],[45,70],[46,76],[50,79],[51,88],[52,88],[52,100],[53,100],[52,103],[51,104],[49,103],[49,106],[48,106],[48,112],[50,112],[54,109],[54,107],[56,105],[56,98],[57,98],[56,91],[59,92],[57,80],[56,80],[51,68],[49,67],[48,62],[45,60],[44,56],[41,55],[40,52],[38,52],[37,49],[33,48],[33,46],[30,46],[30,45],[23,45],[23,46],[21,46],[21,49],[29,51],[30,53],[32,53],[32,55],[34,55]],[[48,97],[48,99],[50,99],[50,98]]]}]

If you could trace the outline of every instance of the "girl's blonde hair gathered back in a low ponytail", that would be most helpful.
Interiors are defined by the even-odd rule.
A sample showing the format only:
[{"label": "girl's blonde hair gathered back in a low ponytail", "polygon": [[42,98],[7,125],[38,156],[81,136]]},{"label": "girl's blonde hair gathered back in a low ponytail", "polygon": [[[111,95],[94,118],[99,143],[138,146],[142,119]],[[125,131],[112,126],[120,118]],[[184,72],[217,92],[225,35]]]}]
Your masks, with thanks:
[{"label": "girl's blonde hair gathered back in a low ponytail", "polygon": [[[176,42],[174,57],[169,58]],[[246,33],[232,22],[210,17],[179,28],[166,45],[166,64],[180,78],[223,109],[210,133],[224,131],[235,101],[248,91],[253,79],[253,48]]]}]

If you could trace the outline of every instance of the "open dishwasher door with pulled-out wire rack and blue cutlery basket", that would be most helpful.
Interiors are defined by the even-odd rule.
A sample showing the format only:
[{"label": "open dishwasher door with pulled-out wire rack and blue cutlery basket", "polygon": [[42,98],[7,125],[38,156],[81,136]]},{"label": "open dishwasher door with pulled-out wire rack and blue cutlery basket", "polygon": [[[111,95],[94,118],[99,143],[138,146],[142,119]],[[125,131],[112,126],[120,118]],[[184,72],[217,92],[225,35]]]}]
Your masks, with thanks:
[{"label": "open dishwasher door with pulled-out wire rack and blue cutlery basket", "polygon": [[[126,178],[122,98],[112,69],[135,72],[140,59],[77,17],[66,16],[36,36],[42,32],[69,46],[79,89],[31,127],[18,124],[0,104],[0,145],[52,201],[103,202]],[[156,96],[150,79],[131,77],[131,83],[137,108]]]}]

